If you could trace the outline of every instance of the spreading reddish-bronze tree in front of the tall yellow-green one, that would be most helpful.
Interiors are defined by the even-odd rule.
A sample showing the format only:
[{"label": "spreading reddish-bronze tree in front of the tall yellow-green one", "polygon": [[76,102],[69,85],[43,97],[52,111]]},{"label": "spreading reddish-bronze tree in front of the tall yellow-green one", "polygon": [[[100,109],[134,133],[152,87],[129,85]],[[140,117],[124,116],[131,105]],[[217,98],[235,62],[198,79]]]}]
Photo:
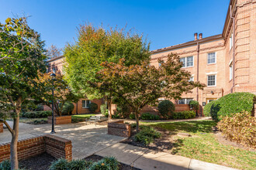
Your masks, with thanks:
[{"label": "spreading reddish-bronze tree in front of the tall yellow-green one", "polygon": [[120,103],[128,104],[137,120],[139,129],[140,110],[147,104],[155,104],[159,97],[178,99],[195,87],[202,89],[199,82],[189,82],[191,74],[182,69],[182,63],[176,54],[168,55],[168,60],[160,68],[143,63],[125,66],[124,59],[119,63],[102,63],[104,67],[97,73],[97,83],[91,86],[101,93],[112,93]]}]

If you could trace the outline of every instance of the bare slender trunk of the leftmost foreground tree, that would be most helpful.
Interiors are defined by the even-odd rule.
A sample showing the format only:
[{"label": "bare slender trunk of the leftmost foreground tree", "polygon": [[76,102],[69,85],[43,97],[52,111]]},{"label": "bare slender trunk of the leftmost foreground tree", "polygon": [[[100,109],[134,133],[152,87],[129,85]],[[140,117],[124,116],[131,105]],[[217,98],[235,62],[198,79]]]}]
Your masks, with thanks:
[{"label": "bare slender trunk of the leftmost foreground tree", "polygon": [[13,128],[12,128],[12,141],[11,141],[11,169],[15,170],[19,168],[18,162],[18,151],[17,151],[17,143],[19,138],[19,113],[21,107],[18,106],[16,108],[16,117],[13,119]]}]

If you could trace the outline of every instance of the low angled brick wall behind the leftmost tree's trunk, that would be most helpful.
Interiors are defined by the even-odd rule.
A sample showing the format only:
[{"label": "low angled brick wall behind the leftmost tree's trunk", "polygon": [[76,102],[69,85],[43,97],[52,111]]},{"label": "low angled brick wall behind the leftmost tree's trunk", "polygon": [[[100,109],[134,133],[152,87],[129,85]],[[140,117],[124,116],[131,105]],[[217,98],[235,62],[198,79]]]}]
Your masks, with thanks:
[{"label": "low angled brick wall behind the leftmost tree's trunk", "polygon": [[[0,162],[10,158],[10,145],[10,143],[0,145]],[[50,134],[18,141],[17,151],[19,160],[31,158],[44,152],[54,158],[72,160],[71,141]]]}]

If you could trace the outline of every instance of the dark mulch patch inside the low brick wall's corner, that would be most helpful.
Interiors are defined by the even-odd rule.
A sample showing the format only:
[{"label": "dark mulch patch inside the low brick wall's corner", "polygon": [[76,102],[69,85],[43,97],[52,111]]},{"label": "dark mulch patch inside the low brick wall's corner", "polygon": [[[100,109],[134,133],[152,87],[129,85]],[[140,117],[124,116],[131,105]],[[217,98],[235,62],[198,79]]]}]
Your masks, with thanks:
[{"label": "dark mulch patch inside the low brick wall's corner", "polygon": [[28,158],[26,160],[19,161],[20,168],[25,169],[36,169],[36,170],[47,170],[49,169],[51,162],[56,161],[57,159],[53,156],[43,153],[42,155],[37,155],[33,158]]}]

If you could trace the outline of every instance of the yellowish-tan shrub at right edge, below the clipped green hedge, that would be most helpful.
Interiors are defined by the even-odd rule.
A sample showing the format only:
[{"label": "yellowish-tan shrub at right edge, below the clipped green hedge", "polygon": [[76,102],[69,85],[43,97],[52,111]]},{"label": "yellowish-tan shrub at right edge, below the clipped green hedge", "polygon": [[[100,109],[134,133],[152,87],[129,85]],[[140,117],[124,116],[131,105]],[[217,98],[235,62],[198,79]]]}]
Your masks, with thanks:
[{"label": "yellowish-tan shrub at right edge, below the clipped green hedge", "polygon": [[231,141],[256,148],[256,118],[249,112],[234,114],[234,117],[221,117],[217,127]]}]

